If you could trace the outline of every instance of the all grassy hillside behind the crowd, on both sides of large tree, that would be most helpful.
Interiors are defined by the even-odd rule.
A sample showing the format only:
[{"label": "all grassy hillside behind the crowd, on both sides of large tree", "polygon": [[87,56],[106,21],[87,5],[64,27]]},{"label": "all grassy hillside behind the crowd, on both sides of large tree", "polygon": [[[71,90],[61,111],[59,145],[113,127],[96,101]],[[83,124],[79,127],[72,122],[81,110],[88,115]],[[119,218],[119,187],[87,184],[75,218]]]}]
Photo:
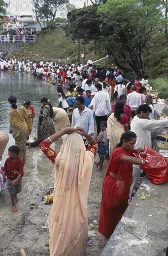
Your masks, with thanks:
[{"label": "all grassy hillside behind the crowd, on both sides of large tree", "polygon": [[[97,54],[93,51],[93,41],[90,41],[86,46],[86,61],[91,59],[92,61],[98,60],[104,55],[98,50]],[[61,61],[64,64],[69,64],[74,61],[77,64],[78,60],[78,43],[74,45],[75,56],[73,56],[73,42],[66,37],[62,28],[56,28],[52,32],[41,33],[37,36],[37,40],[33,44],[21,44],[16,50],[14,50],[7,57],[14,57],[16,59],[24,60],[52,60]],[[83,58],[83,45],[81,40],[80,49],[80,61],[84,63]],[[110,67],[112,66],[112,57],[109,57],[103,61],[96,62],[96,65]],[[144,54],[144,63],[146,71],[150,78],[156,78],[159,76],[168,77],[168,44],[163,33],[153,38],[153,44],[150,51]],[[113,66],[115,67],[115,66]],[[125,77],[136,77],[131,71],[129,74],[124,74]]]}]

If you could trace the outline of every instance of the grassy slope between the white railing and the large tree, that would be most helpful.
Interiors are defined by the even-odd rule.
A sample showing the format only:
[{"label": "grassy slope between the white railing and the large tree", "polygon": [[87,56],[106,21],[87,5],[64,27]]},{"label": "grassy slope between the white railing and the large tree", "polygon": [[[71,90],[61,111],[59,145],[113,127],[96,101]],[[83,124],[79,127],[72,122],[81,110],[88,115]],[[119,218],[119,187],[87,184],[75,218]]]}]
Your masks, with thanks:
[{"label": "grassy slope between the white railing and the large tree", "polygon": [[[86,45],[86,60],[92,57],[93,60],[99,58],[99,55],[93,53],[93,42]],[[33,44],[21,44],[16,50],[14,50],[7,57],[14,57],[25,60],[53,60],[60,61],[68,64],[72,61],[77,62],[78,56],[78,44],[77,41],[74,45],[75,57],[73,56],[73,42],[65,36],[64,31],[61,28],[56,28],[52,32],[41,33],[37,36],[37,40]],[[83,54],[83,45],[81,41],[80,61]]]}]

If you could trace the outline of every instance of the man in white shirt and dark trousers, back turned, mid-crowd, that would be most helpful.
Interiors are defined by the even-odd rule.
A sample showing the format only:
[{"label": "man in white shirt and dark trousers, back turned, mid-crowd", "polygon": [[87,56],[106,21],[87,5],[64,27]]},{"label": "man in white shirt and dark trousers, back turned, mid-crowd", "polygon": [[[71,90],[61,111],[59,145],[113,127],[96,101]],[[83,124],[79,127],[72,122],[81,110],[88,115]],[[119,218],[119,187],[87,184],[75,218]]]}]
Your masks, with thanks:
[{"label": "man in white shirt and dark trousers, back turned, mid-crowd", "polygon": [[107,121],[107,115],[111,111],[110,98],[107,93],[102,91],[102,85],[96,84],[98,93],[94,96],[93,111],[95,112],[95,120],[97,126],[97,133],[100,133],[100,122]]}]

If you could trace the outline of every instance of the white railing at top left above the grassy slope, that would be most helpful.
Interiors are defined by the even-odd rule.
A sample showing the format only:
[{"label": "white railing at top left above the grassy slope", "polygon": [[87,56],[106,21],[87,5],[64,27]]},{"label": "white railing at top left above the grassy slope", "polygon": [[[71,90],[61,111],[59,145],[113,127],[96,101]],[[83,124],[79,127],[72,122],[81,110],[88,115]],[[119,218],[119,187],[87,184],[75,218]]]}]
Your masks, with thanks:
[{"label": "white railing at top left above the grassy slope", "polygon": [[4,35],[0,34],[0,43],[32,43],[36,40],[36,35],[17,34],[17,35]]}]

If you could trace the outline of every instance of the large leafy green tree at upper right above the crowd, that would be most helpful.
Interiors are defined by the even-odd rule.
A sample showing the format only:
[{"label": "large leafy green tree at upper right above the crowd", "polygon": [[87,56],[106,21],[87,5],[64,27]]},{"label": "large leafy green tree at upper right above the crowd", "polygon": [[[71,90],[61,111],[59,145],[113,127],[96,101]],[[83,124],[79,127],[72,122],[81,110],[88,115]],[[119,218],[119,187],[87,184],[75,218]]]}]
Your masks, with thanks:
[{"label": "large leafy green tree at upper right above the crowd", "polygon": [[151,35],[165,23],[164,0],[107,0],[98,7],[101,48],[113,56],[121,69],[145,74],[143,53],[151,46]]}]

